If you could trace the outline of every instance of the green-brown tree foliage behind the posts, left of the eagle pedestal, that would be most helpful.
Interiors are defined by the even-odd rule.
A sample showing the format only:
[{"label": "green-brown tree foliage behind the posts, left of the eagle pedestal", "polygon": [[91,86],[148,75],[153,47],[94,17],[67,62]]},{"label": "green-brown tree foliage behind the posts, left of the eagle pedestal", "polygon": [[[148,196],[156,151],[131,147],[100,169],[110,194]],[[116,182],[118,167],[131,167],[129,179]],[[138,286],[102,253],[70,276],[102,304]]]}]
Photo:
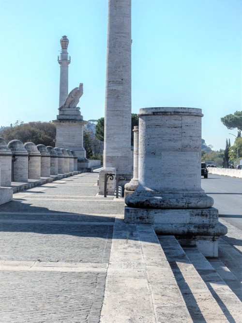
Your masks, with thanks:
[{"label": "green-brown tree foliage behind the posts, left of the eagle pedestal", "polygon": [[32,142],[35,145],[55,146],[56,125],[52,122],[29,122],[16,121],[12,128],[1,131],[0,136],[10,142],[20,140],[23,144]]}]

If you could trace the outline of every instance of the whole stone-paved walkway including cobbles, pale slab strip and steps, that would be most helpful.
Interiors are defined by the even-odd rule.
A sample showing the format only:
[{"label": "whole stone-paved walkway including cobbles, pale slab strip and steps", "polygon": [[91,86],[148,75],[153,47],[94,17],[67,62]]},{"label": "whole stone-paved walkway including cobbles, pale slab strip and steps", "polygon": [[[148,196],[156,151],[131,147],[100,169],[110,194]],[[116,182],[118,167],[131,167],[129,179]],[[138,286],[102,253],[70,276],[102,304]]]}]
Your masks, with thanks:
[{"label": "whole stone-paved walkway including cobbles, pale slab strip and steps", "polygon": [[242,322],[241,232],[229,227],[209,263],[150,225],[125,224],[123,199],[97,195],[97,177],[0,206],[0,323]]}]

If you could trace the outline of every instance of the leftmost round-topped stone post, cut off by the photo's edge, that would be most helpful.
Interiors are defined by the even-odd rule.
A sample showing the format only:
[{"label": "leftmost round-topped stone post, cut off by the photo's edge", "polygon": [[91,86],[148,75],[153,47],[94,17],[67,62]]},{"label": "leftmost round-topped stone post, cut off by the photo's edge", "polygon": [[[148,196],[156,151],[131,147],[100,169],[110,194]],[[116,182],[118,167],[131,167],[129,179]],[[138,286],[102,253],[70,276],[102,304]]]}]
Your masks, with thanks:
[{"label": "leftmost round-topped stone post, cut off by the photo's edge", "polygon": [[0,137],[0,186],[11,186],[11,169],[12,151],[7,142]]}]

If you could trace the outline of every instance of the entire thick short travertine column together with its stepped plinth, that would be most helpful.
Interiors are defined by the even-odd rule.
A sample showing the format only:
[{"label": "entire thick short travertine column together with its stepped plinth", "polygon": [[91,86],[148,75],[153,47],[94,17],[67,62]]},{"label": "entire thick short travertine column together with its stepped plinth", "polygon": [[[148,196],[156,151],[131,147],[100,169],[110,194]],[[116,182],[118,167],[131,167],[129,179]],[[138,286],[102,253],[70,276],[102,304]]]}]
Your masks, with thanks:
[{"label": "entire thick short travertine column together with its stepped plinth", "polygon": [[124,221],[151,223],[158,234],[217,257],[217,240],[227,228],[201,189],[201,117],[193,108],[140,109],[139,184],[125,199]]}]

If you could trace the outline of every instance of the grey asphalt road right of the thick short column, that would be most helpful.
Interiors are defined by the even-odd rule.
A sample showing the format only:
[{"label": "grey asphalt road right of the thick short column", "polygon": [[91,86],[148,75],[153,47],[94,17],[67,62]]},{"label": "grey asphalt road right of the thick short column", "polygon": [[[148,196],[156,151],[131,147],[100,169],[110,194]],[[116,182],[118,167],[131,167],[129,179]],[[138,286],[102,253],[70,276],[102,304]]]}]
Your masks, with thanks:
[{"label": "grey asphalt road right of the thick short column", "polygon": [[201,186],[214,199],[219,217],[242,230],[242,179],[209,174]]}]

